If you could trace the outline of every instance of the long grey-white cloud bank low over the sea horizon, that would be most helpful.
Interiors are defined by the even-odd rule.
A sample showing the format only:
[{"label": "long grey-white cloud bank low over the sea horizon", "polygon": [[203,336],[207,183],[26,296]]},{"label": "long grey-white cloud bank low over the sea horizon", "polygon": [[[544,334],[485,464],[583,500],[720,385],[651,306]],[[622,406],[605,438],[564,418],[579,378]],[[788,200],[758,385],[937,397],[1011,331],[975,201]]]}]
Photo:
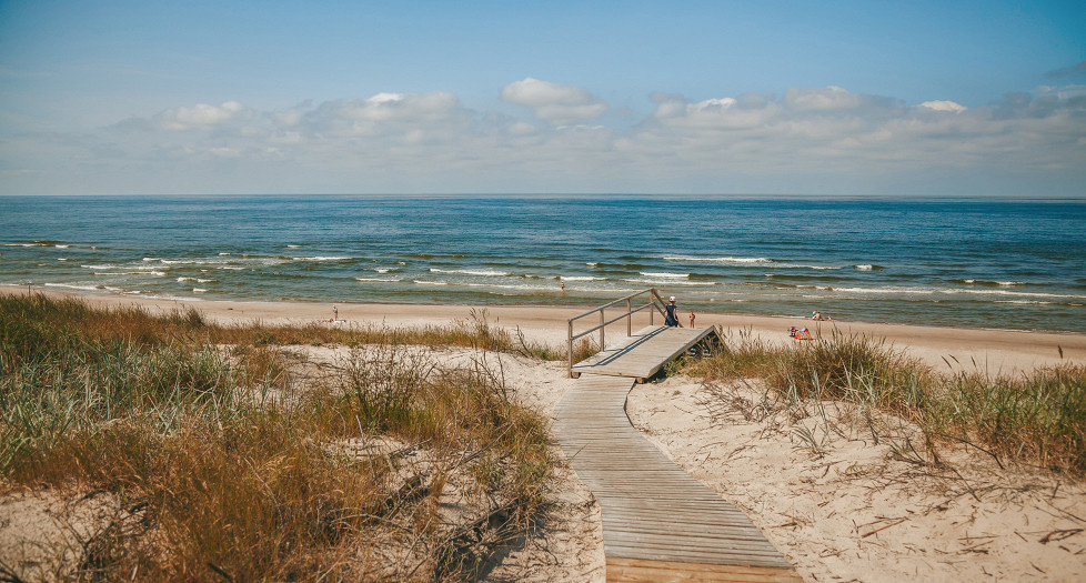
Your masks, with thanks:
[{"label": "long grey-white cloud bank low over the sea horizon", "polygon": [[7,137],[0,175],[6,194],[1082,197],[1086,97],[1076,87],[971,108],[937,98],[911,105],[839,87],[702,100],[661,92],[632,123],[614,121],[611,104],[585,89],[533,78],[499,93],[526,108],[524,117],[472,109],[445,91],[276,110],[190,103],[90,133]]}]

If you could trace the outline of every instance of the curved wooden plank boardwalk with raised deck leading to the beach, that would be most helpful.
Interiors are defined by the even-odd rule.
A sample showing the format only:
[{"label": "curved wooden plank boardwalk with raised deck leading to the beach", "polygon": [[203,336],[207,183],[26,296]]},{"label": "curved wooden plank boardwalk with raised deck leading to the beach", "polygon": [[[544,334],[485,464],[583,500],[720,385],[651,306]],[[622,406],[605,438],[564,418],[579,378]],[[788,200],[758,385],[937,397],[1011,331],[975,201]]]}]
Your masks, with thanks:
[{"label": "curved wooden plank boardwalk with raised deck leading to the beach", "polygon": [[[670,331],[685,333],[661,338]],[[581,373],[589,366],[607,372],[583,374],[555,406],[559,443],[603,513],[607,581],[802,581],[738,509],[630,424],[625,403],[634,381],[686,351],[691,338],[707,335],[663,332],[640,332],[594,363],[579,364]],[[654,339],[673,352],[661,356]],[[619,375],[616,363],[633,372]]]}]

